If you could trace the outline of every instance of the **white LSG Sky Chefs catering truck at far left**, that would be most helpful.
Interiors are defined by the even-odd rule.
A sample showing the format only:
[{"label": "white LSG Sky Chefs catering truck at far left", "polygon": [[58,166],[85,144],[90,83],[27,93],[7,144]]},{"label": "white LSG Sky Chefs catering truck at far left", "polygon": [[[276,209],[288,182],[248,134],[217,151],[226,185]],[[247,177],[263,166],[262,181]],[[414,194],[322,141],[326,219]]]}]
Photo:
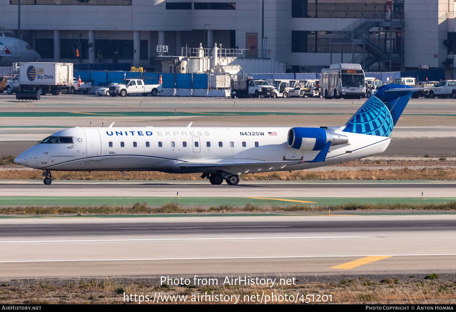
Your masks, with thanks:
[{"label": "white LSG Sky Chefs catering truck at far left", "polygon": [[73,63],[21,63],[19,75],[6,84],[6,92],[40,91],[40,95],[60,94],[73,85]]}]

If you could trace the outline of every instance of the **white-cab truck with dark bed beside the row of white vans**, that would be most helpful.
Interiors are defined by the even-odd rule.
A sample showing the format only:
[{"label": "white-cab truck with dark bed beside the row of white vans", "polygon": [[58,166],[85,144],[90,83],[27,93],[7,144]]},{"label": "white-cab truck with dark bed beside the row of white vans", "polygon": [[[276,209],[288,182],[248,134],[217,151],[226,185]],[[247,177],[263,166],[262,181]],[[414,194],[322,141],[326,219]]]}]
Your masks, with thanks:
[{"label": "white-cab truck with dark bed beside the row of white vans", "polygon": [[269,97],[275,98],[276,93],[274,87],[271,86],[264,79],[253,79],[248,76],[245,79],[233,80],[231,79],[231,98],[259,98]]}]

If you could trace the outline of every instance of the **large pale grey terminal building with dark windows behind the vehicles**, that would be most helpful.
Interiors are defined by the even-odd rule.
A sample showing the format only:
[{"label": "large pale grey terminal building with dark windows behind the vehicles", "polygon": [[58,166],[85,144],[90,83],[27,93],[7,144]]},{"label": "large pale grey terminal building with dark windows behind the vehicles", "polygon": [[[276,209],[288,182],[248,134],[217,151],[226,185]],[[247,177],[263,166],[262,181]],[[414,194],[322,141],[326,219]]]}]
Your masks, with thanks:
[{"label": "large pale grey terminal building with dark windows behind the vehicles", "polygon": [[[338,62],[371,71],[453,73],[453,0],[210,1],[21,0],[21,37],[42,61],[76,64],[131,62],[153,69],[157,45],[168,46],[163,56],[181,56],[182,47],[217,43],[244,49],[238,57],[286,63],[291,73]],[[1,28],[17,32],[18,6],[18,0],[0,0]],[[81,43],[79,57],[74,43]]]}]

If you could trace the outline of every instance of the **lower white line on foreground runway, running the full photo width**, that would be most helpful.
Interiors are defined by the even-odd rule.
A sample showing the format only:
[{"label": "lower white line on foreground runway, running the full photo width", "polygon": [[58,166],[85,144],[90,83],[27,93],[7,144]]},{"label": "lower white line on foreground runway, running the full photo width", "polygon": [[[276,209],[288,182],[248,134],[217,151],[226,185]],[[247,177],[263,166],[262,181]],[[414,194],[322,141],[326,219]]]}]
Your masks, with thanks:
[{"label": "lower white line on foreground runway, running the full photo width", "polygon": [[442,256],[456,254],[410,254],[410,255],[308,255],[308,256],[265,256],[265,257],[201,257],[201,258],[143,258],[143,259],[71,259],[71,260],[10,260],[0,263],[20,262],[77,262],[77,261],[157,261],[157,260],[230,260],[230,259],[290,259],[290,258],[358,258],[358,257],[407,257],[407,256]]}]

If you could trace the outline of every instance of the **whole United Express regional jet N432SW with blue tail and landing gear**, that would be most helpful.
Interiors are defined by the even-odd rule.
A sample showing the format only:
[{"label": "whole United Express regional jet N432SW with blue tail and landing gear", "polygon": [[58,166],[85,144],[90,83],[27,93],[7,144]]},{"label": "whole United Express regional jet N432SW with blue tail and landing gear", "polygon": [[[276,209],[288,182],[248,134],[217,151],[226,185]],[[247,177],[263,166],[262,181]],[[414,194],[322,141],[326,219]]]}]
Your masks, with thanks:
[{"label": "whole United Express regional jet N432SW with blue tail and landing gear", "polygon": [[239,182],[241,173],[292,171],[382,153],[411,95],[384,85],[343,126],[75,127],[58,131],[14,160],[51,171],[202,173],[212,184]]}]

